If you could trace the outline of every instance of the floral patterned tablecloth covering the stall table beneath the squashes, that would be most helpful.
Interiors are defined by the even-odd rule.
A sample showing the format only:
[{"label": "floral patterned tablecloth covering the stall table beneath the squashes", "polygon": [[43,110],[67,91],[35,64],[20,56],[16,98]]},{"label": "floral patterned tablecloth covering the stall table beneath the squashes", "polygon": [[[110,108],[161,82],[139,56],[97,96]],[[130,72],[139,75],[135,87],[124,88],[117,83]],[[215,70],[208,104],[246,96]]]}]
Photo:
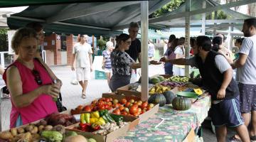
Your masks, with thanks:
[{"label": "floral patterned tablecloth covering the stall table beneath the squashes", "polygon": [[[176,111],[171,105],[159,109],[154,118],[139,124],[134,130],[127,132],[127,136],[119,137],[114,142],[137,141],[183,141],[191,129],[197,129],[208,115],[210,109],[210,95],[195,102],[187,111]],[[163,124],[155,129],[161,118]]]}]

